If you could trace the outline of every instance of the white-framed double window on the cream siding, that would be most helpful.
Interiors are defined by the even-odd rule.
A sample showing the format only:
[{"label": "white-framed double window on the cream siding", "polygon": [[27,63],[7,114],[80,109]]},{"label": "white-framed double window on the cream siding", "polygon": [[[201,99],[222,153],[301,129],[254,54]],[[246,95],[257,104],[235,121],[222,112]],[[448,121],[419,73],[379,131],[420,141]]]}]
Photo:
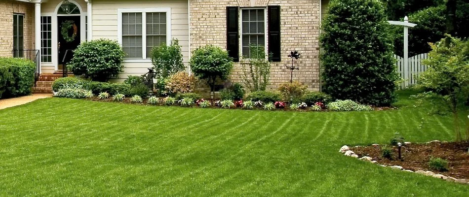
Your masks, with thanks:
[{"label": "white-framed double window on the cream siding", "polygon": [[129,59],[150,59],[170,38],[170,8],[119,9],[119,42]]}]

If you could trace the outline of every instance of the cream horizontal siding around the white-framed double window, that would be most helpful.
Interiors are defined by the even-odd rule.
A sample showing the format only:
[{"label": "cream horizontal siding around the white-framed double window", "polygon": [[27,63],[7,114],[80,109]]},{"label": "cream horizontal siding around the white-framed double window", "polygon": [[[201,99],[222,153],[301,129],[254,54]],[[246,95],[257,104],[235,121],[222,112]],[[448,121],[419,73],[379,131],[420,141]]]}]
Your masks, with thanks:
[{"label": "cream horizontal siding around the white-framed double window", "polygon": [[[93,0],[92,25],[93,39],[108,38],[117,40],[117,9],[122,8],[171,8],[171,38],[179,40],[184,64],[189,61],[189,21],[187,0]],[[147,68],[152,67],[150,62],[124,63],[124,72],[118,80],[127,78],[127,75],[141,75]]]}]

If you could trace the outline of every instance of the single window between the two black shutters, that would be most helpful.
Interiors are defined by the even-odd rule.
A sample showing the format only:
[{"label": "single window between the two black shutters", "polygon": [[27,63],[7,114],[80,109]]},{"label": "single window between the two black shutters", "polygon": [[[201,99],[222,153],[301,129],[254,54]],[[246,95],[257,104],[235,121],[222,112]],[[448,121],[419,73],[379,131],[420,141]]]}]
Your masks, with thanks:
[{"label": "single window between the two black shutters", "polygon": [[241,9],[241,50],[250,57],[249,45],[265,47],[266,20],[264,9]]}]

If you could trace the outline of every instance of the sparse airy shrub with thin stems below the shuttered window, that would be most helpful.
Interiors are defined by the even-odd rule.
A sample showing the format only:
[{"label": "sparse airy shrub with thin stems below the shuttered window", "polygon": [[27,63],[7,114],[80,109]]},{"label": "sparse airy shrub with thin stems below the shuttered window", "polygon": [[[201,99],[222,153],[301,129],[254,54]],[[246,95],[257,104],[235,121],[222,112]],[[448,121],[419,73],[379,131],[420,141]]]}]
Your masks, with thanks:
[{"label": "sparse airy shrub with thin stems below the shuttered window", "polygon": [[251,92],[264,91],[269,84],[271,65],[265,48],[262,46],[250,45],[250,57],[244,57],[248,63],[241,64],[241,81]]}]

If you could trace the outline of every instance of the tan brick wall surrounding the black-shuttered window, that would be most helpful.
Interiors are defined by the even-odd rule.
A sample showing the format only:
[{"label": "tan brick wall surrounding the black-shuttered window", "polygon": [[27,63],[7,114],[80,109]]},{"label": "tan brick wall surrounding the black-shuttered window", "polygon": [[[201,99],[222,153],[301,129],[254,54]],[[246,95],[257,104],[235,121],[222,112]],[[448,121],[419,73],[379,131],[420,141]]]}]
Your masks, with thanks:
[{"label": "tan brick wall surrounding the black-shuttered window", "polygon": [[[272,63],[271,85],[290,81],[290,51],[302,54],[295,66],[293,80],[298,80],[310,90],[319,91],[319,0],[190,0],[191,51],[197,47],[213,44],[226,49],[226,7],[266,7],[280,5],[282,61]],[[267,18],[267,17],[266,17]],[[230,82],[240,82],[240,64],[230,77]]]}]

